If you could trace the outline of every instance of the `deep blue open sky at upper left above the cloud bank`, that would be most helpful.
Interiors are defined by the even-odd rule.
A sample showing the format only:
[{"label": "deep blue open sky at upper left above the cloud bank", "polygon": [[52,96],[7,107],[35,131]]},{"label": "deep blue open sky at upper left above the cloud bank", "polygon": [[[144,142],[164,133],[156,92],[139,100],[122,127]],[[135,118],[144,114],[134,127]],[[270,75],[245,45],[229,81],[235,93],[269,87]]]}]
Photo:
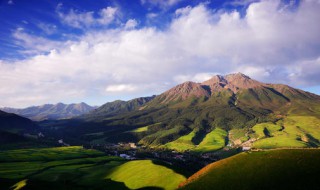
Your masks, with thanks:
[{"label": "deep blue open sky at upper left above the cloud bank", "polygon": [[[250,1],[251,2],[251,1]],[[206,4],[212,10],[224,9],[245,11],[247,3],[232,4],[228,1],[182,1],[182,0],[3,0],[0,4],[0,58],[4,60],[25,59],[39,52],[25,52],[29,47],[19,43],[14,35],[21,30],[32,36],[53,41],[77,40],[88,31],[114,29],[125,24],[129,19],[138,22],[136,28],[156,27],[166,29],[174,18],[175,11],[181,7]],[[101,18],[101,10],[115,8],[116,21],[110,23],[86,24],[79,20],[76,23],[63,21],[63,16],[83,15],[92,19]],[[149,17],[153,19],[148,19]],[[155,16],[157,15],[157,16]],[[90,21],[88,21],[90,22]],[[22,40],[20,40],[22,41]]]}]

